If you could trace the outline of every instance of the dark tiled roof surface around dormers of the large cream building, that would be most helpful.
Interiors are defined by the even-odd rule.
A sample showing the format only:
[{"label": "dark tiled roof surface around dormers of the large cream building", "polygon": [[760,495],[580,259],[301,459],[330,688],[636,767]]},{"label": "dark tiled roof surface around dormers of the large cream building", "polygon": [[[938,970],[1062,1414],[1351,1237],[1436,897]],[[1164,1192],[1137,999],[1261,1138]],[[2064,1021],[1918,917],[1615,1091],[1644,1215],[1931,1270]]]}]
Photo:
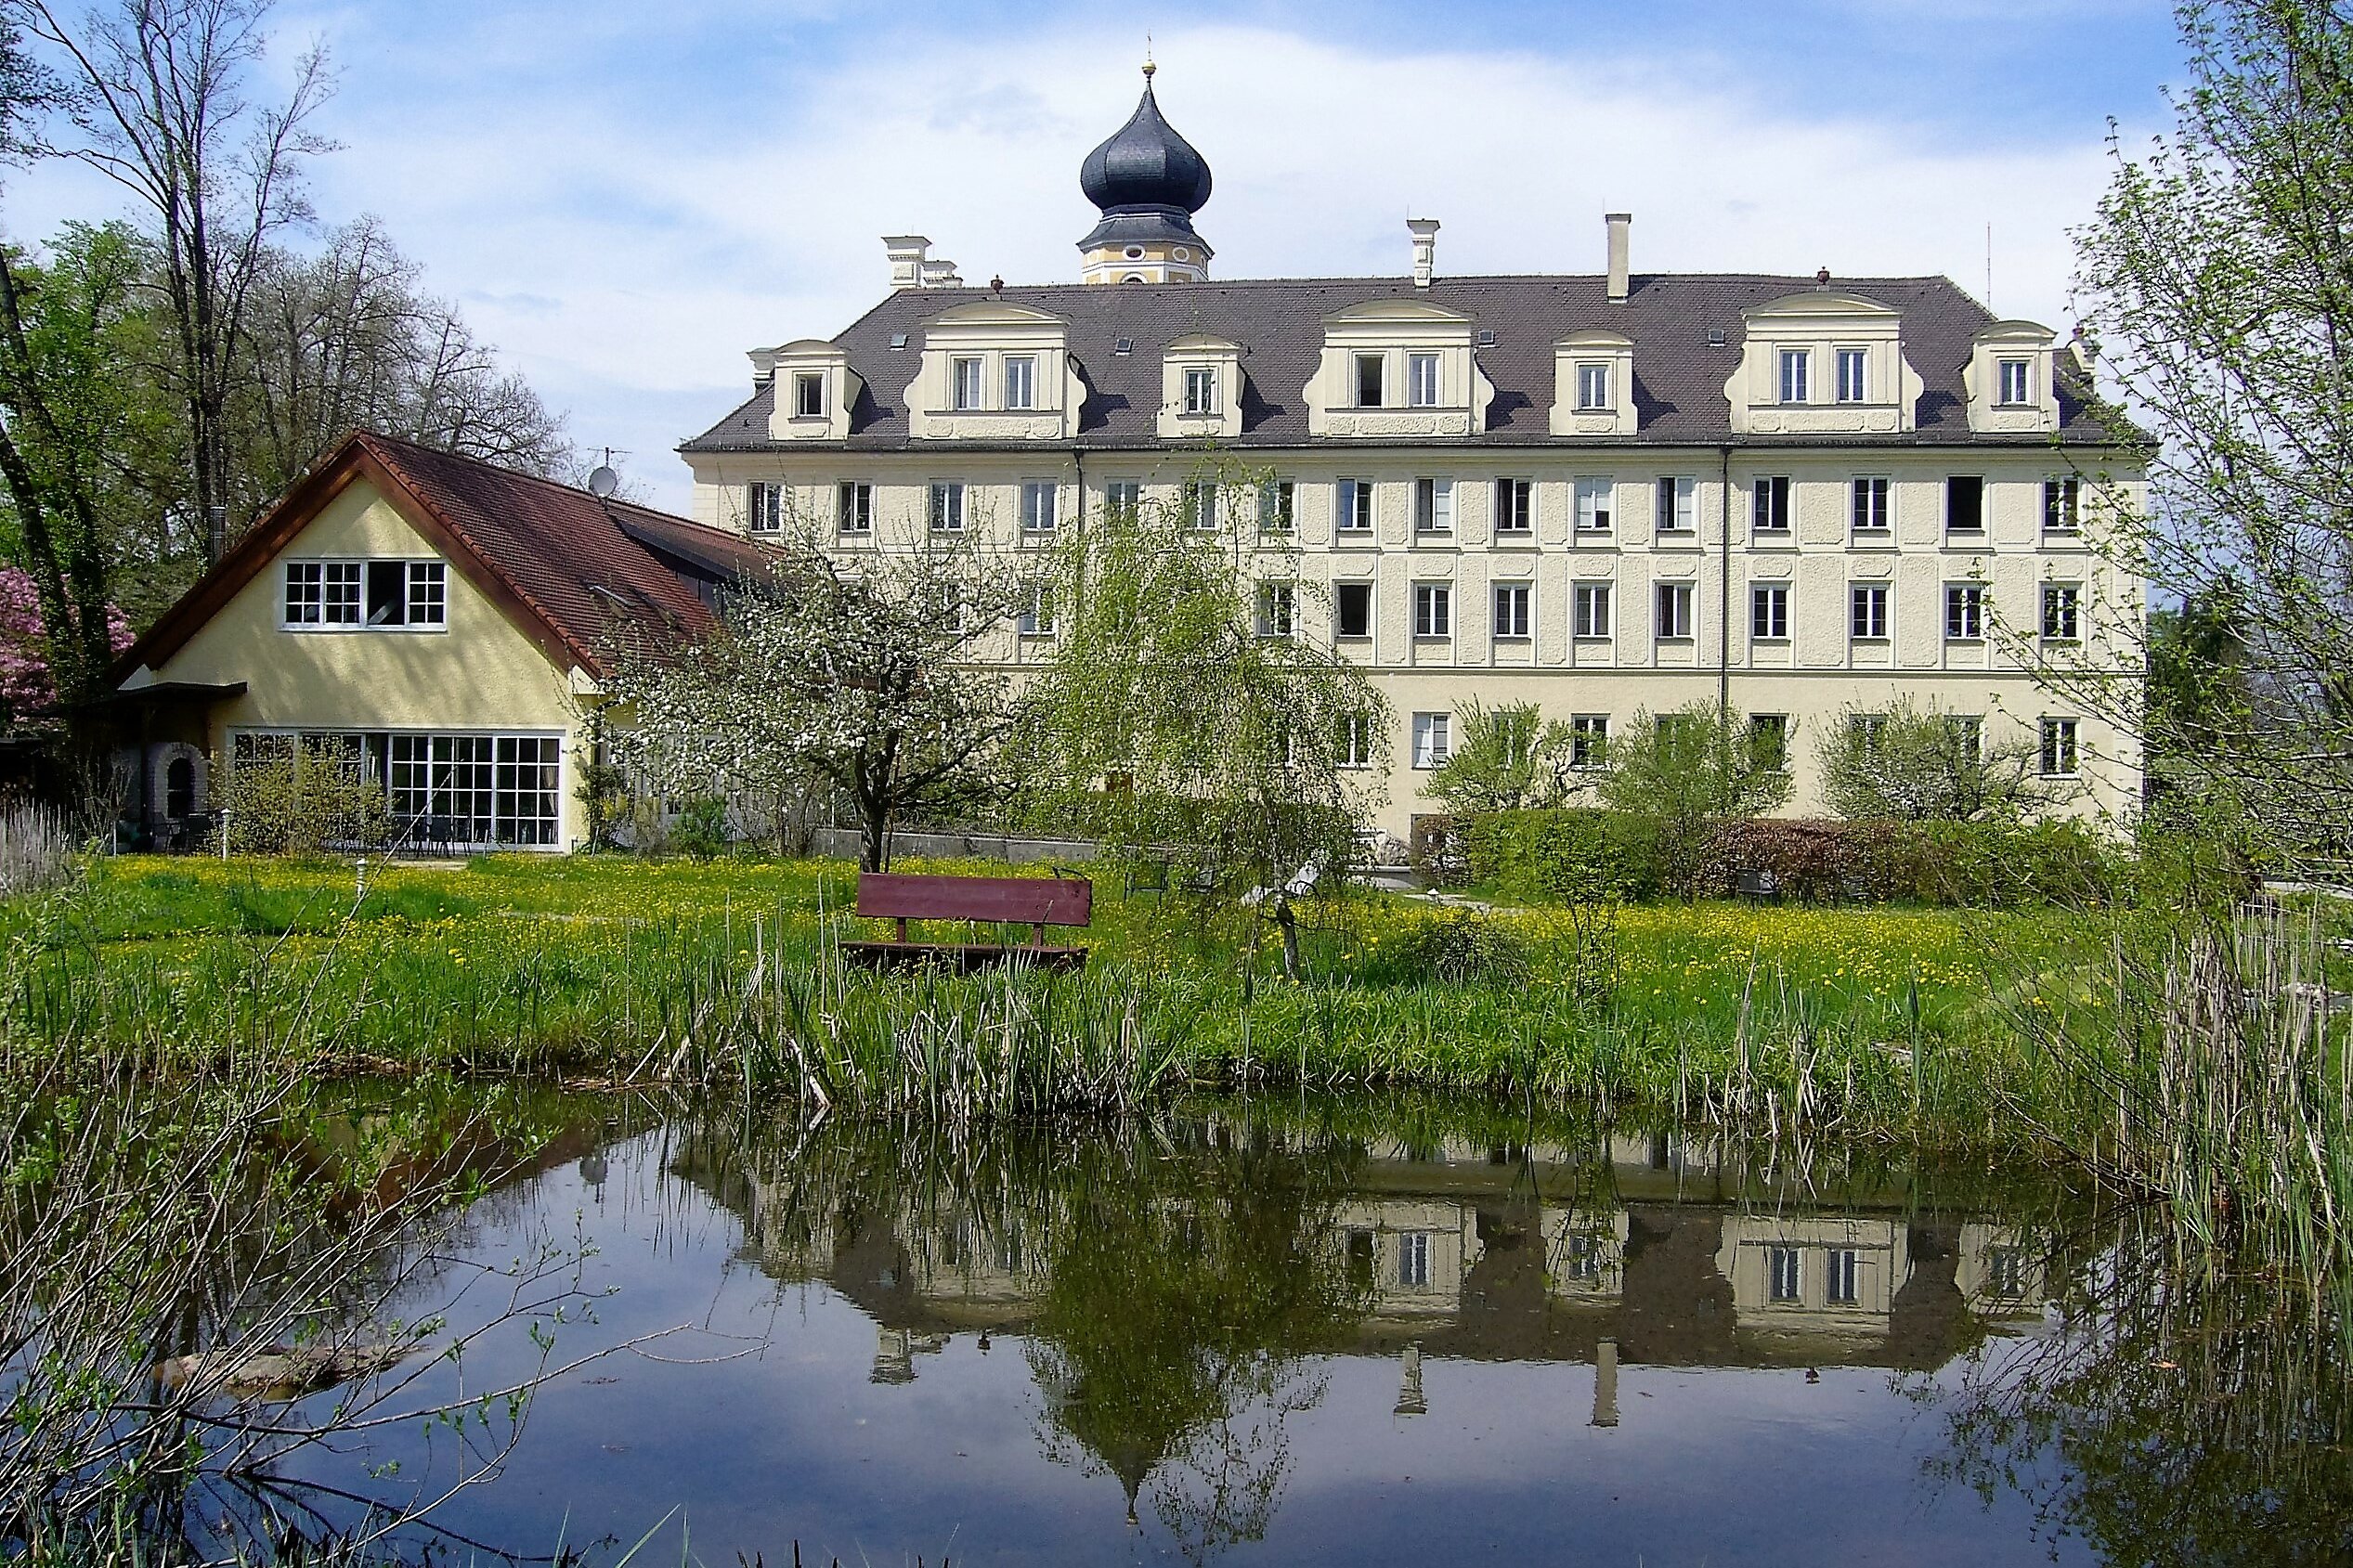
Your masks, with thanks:
[{"label": "dark tiled roof surface around dormers of the large cream building", "polygon": [[[1633,280],[1624,306],[1607,299],[1605,277],[1440,277],[1417,289],[1409,277],[1275,277],[1186,284],[1033,284],[988,289],[899,289],[833,341],[849,350],[866,395],[852,409],[852,449],[906,447],[906,386],[915,378],[925,320],[953,306],[1002,299],[1071,322],[1071,353],[1087,381],[1078,442],[1082,447],[1176,447],[1155,433],[1160,348],[1191,331],[1242,346],[1242,447],[1308,447],[1301,390],[1322,353],[1322,320],[1374,299],[1419,299],[1468,315],[1494,331],[1480,367],[1494,381],[1494,404],[1478,444],[1551,442],[1553,343],[1572,331],[1607,327],[1633,339],[1635,407],[1647,444],[1715,444],[1732,435],[1725,381],[1741,360],[1741,310],[1817,287],[1812,277],[1652,275]],[[1925,390],[1918,430],[1899,437],[1835,437],[1880,444],[2042,444],[2047,435],[1972,435],[1960,371],[1993,315],[1948,277],[1838,277],[1840,294],[1875,299],[1904,315],[1904,357]],[[1711,346],[1708,331],[1722,331]],[[908,346],[892,350],[892,334]],[[1118,339],[1134,353],[1120,355]],[[800,447],[767,435],[772,388],[685,442],[680,451],[765,451]],[[2099,442],[2082,400],[2061,376],[2061,435]],[[1769,437],[1751,437],[1769,440]],[[1802,437],[1821,444],[1831,437]],[[1341,442],[1334,442],[1341,444]],[[1346,444],[1362,444],[1348,437]]]}]

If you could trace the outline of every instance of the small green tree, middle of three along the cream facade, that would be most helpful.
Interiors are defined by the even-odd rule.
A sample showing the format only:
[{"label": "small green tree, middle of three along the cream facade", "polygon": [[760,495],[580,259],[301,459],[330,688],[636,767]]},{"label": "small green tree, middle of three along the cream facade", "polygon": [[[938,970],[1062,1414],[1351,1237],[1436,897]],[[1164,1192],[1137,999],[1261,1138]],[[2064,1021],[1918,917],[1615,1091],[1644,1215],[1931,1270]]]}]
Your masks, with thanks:
[{"label": "small green tree, middle of three along the cream facade", "polygon": [[1659,882],[1697,898],[1708,830],[1788,802],[1788,733],[1708,701],[1657,717],[1638,712],[1612,741],[1598,788],[1605,806],[1657,827]]}]

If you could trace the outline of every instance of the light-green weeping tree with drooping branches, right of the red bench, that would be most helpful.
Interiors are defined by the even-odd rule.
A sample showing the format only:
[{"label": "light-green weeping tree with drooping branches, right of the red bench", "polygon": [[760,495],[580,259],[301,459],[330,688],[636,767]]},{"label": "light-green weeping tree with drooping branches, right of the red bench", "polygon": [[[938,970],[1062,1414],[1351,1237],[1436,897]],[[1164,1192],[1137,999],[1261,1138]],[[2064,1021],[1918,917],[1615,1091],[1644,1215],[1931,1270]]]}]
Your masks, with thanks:
[{"label": "light-green weeping tree with drooping branches, right of the red bench", "polygon": [[1259,505],[1252,475],[1205,463],[1184,503],[1106,512],[1061,541],[1040,583],[1054,651],[1012,764],[1040,820],[1249,900],[1297,978],[1294,903],[1358,856],[1388,708],[1320,635],[1297,550]]}]

